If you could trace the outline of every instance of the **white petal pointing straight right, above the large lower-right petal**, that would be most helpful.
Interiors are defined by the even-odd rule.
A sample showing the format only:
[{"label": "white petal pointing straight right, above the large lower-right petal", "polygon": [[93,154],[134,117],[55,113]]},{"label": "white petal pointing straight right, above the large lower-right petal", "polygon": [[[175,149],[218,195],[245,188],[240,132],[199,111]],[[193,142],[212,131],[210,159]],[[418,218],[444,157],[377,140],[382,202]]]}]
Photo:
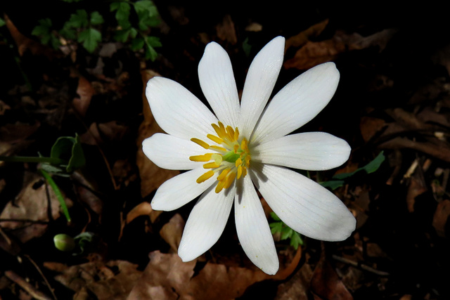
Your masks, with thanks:
[{"label": "white petal pointing straight right, above the large lower-right petal", "polygon": [[252,149],[252,161],[321,171],[347,162],[351,150],[342,138],[325,132],[307,132],[257,145]]}]

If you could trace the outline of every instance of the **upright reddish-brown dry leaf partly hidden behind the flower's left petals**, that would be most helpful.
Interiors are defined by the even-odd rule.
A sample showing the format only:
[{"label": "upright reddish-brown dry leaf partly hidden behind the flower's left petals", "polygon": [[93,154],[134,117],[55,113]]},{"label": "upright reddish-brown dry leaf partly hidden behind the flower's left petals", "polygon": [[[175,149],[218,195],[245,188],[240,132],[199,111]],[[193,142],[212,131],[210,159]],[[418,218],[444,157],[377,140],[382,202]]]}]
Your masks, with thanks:
[{"label": "upright reddish-brown dry leaf partly hidden behind the flower's left petals", "polygon": [[136,144],[138,146],[138,152],[136,153],[136,165],[139,168],[139,175],[141,176],[141,195],[142,197],[146,197],[148,194],[153,192],[156,188],[158,188],[163,182],[167,181],[169,178],[172,178],[179,174],[179,171],[166,170],[161,169],[160,167],[153,164],[143,154],[142,151],[142,141],[145,138],[152,136],[154,133],[162,132],[160,126],[155,122],[153,115],[150,111],[150,106],[148,105],[147,98],[145,96],[145,89],[147,85],[147,81],[158,75],[152,71],[143,71],[141,73],[142,81],[143,81],[143,122],[139,127],[139,136],[136,140]]}]

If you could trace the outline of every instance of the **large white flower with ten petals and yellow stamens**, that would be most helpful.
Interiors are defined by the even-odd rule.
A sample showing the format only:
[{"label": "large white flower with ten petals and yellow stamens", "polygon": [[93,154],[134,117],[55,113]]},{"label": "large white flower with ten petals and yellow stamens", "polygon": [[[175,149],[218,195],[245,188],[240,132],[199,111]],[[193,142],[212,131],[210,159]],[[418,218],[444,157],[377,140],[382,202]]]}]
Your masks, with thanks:
[{"label": "large white flower with ten petals and yellow stamens", "polygon": [[240,244],[265,273],[275,274],[278,256],[257,191],[290,228],[318,240],[345,240],[356,220],[318,183],[290,170],[326,170],[347,161],[350,147],[328,133],[287,136],[325,107],[338,86],[334,63],[293,79],[271,96],[283,63],[285,39],[276,37],[257,54],[239,101],[226,51],[210,43],[198,66],[200,86],[214,114],[170,79],[154,77],[146,88],[156,122],[167,133],[143,141],[158,167],[188,170],[163,183],[153,209],[171,211],[198,199],[186,222],[178,254],[191,261],[219,239],[234,202]]}]

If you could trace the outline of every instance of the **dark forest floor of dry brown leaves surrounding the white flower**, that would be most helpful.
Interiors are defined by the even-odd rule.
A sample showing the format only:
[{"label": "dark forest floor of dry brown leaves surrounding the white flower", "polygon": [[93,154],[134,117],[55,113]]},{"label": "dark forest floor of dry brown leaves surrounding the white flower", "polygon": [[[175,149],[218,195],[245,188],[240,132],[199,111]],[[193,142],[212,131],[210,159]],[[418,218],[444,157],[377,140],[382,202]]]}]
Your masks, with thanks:
[{"label": "dark forest floor of dry brown leaves surrounding the white flower", "polygon": [[[154,1],[161,22],[152,34],[162,47],[150,61],[115,41],[93,53],[43,46],[30,32],[44,9],[15,2],[0,10],[8,37],[0,42],[0,155],[49,157],[58,138],[78,136],[86,162],[53,176],[70,223],[41,164],[0,162],[0,299],[450,299],[443,8]],[[275,236],[281,268],[269,276],[248,261],[230,218],[209,252],[182,263],[176,249],[194,202],[168,212],[150,207],[177,172],[141,150],[160,131],[146,82],[158,74],[204,100],[198,62],[217,41],[241,90],[252,58],[278,35],[286,48],[275,91],[319,63],[340,71],[333,100],[301,131],[344,138],[352,155],[313,176],[330,179],[385,157],[373,173],[333,190],[356,216],[356,230],[342,242],[303,237],[297,250]],[[62,252],[53,243],[60,233],[93,240],[82,253]]]}]

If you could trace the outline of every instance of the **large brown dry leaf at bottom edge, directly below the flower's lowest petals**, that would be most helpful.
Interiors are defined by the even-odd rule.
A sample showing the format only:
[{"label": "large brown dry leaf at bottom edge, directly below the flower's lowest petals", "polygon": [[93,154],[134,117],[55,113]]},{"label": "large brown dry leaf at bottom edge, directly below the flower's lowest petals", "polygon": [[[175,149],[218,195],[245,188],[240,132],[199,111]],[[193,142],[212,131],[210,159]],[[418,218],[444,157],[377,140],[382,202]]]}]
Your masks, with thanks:
[{"label": "large brown dry leaf at bottom edge, directly below the flower's lowest petals", "polygon": [[151,252],[150,263],[128,299],[236,299],[255,282],[271,278],[261,270],[214,263],[206,263],[193,277],[195,263],[184,263],[176,254]]}]

